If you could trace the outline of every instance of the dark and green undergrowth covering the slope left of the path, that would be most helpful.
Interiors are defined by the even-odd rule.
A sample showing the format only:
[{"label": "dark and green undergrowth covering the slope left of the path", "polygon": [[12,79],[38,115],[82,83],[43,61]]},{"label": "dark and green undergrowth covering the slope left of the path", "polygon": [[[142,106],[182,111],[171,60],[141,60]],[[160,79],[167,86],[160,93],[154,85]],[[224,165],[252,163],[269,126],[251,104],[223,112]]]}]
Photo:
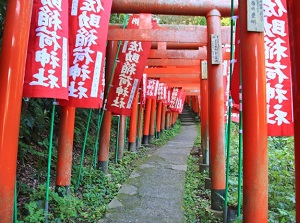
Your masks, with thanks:
[{"label": "dark and green undergrowth covering the slope left of the path", "polygon": [[[19,219],[24,222],[40,222],[44,219],[42,200],[45,197],[45,187],[39,186],[45,182],[46,163],[48,158],[50,117],[53,100],[24,99],[21,116],[19,141],[19,168],[18,197],[25,200],[19,205]],[[72,185],[77,182],[81,148],[86,130],[89,110],[76,109],[73,149],[73,176]],[[82,170],[82,185],[78,191],[72,191],[67,199],[50,193],[49,220],[54,222],[95,222],[100,219],[107,209],[107,204],[118,192],[120,185],[128,178],[134,161],[145,156],[141,149],[137,154],[126,153],[118,164],[109,165],[111,177],[106,177],[100,170],[91,169],[93,150],[97,135],[99,111],[92,114],[89,137],[87,139],[84,167]],[[52,162],[52,176],[55,179],[55,165],[57,160],[57,134],[59,131],[59,109],[55,114],[55,135]],[[111,139],[116,142],[116,117],[112,120]],[[128,129],[127,129],[128,130]],[[112,158],[111,158],[112,159]],[[30,170],[27,170],[30,167]],[[37,188],[38,186],[38,188]],[[91,214],[92,213],[92,214]]]}]

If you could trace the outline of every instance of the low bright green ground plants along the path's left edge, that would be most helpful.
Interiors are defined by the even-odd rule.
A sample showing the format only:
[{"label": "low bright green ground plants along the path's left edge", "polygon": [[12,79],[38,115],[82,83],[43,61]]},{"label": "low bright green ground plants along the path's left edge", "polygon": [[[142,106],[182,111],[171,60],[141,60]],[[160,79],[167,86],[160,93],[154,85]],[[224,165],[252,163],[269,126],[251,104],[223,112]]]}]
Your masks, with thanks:
[{"label": "low bright green ground plants along the path's left edge", "polygon": [[[170,130],[166,130],[160,139],[154,140],[155,146],[162,146],[170,139],[179,134],[181,125],[178,121]],[[130,173],[136,166],[151,153],[153,149],[140,148],[137,153],[125,152],[124,158],[117,164],[113,162],[114,153],[111,153],[109,163],[109,175],[104,175],[102,171],[86,165],[82,169],[82,181],[78,190],[71,186],[71,193],[67,197],[60,197],[54,191],[54,186],[50,190],[49,199],[49,222],[97,222],[103,218],[110,201],[117,195]],[[87,160],[92,154],[87,154]],[[73,165],[73,172],[78,172],[78,164]],[[34,171],[34,170],[32,170]],[[54,177],[53,177],[54,178]],[[72,177],[72,185],[76,185],[76,174]],[[54,182],[52,182],[54,185]],[[24,185],[23,185],[24,186]],[[18,222],[43,222],[45,185],[40,184],[32,189],[24,186],[29,199],[22,208],[18,209]],[[23,191],[22,187],[19,188]]]}]

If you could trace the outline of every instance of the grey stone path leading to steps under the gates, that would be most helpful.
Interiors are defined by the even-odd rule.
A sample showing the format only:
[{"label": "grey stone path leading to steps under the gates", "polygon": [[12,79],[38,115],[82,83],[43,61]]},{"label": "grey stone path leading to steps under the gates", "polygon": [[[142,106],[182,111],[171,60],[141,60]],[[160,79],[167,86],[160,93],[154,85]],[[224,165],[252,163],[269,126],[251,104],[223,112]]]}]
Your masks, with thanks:
[{"label": "grey stone path leading to steps under the gates", "polygon": [[182,132],[130,175],[99,223],[183,223],[187,157],[197,136],[193,115],[181,115]]}]

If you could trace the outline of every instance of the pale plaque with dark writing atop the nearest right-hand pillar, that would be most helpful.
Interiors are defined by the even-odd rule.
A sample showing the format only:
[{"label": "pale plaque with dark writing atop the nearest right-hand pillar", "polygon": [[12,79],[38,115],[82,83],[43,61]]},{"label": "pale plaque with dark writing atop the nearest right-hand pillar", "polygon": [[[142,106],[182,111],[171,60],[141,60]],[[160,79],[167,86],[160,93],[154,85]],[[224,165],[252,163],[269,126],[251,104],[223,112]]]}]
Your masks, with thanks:
[{"label": "pale plaque with dark writing atop the nearest right-hand pillar", "polygon": [[263,0],[247,0],[247,30],[264,31]]}]

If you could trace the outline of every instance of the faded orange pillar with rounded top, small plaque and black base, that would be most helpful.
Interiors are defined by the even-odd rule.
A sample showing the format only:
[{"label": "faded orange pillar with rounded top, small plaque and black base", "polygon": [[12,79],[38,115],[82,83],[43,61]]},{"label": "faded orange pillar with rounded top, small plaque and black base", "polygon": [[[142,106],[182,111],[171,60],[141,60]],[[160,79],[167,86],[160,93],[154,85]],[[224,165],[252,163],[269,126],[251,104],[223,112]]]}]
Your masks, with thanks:
[{"label": "faded orange pillar with rounded top, small plaque and black base", "polygon": [[211,10],[207,16],[207,61],[209,100],[209,146],[211,209],[223,211],[225,194],[224,87],[222,74],[221,14]]}]

